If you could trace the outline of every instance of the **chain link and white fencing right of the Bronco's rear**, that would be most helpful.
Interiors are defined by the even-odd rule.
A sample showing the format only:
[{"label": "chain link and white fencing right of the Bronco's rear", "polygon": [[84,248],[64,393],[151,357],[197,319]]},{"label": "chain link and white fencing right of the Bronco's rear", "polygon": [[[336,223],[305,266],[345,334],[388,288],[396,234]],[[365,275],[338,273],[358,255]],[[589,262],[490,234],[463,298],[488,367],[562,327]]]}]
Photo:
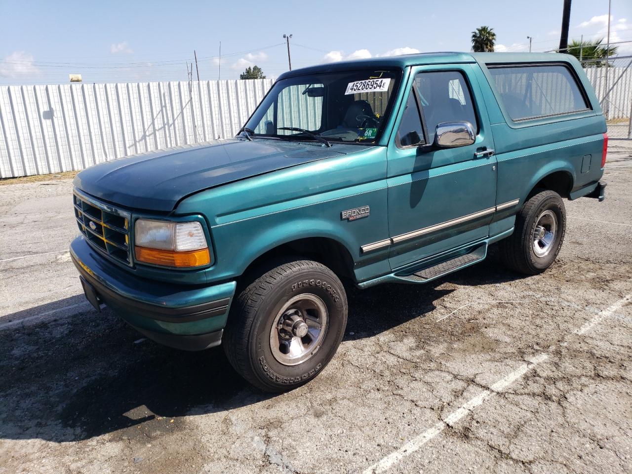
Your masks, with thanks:
[{"label": "chain link and white fencing right of the Bronco's rear", "polygon": [[581,61],[595,88],[609,138],[632,139],[632,56]]}]

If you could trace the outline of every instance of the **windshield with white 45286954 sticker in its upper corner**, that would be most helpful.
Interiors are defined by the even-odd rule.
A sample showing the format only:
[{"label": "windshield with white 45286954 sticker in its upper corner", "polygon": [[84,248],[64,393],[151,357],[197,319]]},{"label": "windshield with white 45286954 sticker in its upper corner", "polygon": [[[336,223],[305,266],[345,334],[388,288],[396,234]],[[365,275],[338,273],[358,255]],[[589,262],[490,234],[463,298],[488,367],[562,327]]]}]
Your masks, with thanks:
[{"label": "windshield with white 45286954 sticker in its upper corner", "polygon": [[400,78],[401,71],[358,70],[280,80],[248,120],[246,132],[255,138],[375,143]]}]

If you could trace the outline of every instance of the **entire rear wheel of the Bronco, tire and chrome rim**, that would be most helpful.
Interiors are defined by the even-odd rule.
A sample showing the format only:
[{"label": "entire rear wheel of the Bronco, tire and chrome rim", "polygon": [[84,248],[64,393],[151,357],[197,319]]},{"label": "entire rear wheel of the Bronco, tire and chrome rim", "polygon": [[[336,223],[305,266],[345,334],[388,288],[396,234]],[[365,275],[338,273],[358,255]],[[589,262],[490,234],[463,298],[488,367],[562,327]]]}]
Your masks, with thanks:
[{"label": "entire rear wheel of the Bronco, tire and chrome rim", "polygon": [[527,275],[544,272],[555,261],[566,231],[566,209],[555,191],[540,191],[516,216],[514,233],[499,242],[502,262]]}]

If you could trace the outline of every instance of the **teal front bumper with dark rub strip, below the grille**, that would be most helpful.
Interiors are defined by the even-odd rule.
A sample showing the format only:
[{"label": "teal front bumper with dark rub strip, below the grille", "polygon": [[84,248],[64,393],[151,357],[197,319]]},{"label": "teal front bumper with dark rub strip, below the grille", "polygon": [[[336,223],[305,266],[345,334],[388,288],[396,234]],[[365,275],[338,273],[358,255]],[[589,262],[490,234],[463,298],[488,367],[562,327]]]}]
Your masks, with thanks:
[{"label": "teal front bumper with dark rub strip, below the grille", "polygon": [[107,261],[83,236],[71,243],[70,255],[100,300],[150,339],[185,350],[221,343],[236,282],[193,286],[140,278]]}]

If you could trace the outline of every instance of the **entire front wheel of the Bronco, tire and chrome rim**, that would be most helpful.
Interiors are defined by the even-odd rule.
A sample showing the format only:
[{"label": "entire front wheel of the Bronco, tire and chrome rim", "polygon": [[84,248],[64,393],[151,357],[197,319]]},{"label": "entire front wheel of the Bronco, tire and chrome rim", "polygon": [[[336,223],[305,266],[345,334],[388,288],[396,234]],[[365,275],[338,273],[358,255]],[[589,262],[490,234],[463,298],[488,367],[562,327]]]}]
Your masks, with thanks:
[{"label": "entire front wheel of the Bronco, tire and chrome rim", "polygon": [[346,294],[336,274],[312,260],[293,260],[252,277],[240,292],[224,333],[224,350],[254,386],[288,391],[329,363],[346,322]]}]

